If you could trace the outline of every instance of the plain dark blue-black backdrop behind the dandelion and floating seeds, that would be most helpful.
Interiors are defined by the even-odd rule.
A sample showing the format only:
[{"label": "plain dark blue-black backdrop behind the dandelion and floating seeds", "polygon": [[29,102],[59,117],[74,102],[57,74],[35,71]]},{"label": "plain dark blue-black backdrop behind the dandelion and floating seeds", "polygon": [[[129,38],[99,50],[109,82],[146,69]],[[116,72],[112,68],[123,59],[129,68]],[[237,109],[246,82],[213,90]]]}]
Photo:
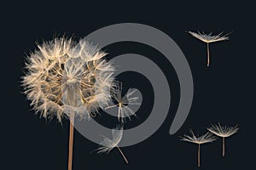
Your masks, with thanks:
[{"label": "plain dark blue-black backdrop behind the dandelion and floating seeds", "polygon": [[[130,163],[125,164],[118,150],[97,155],[98,145],[74,134],[73,169],[195,169],[195,144],[184,143],[178,136],[204,133],[211,123],[239,123],[240,131],[226,140],[226,156],[221,156],[221,140],[201,149],[201,169],[238,169],[253,166],[255,12],[247,3],[3,3],[1,10],[1,152],[4,169],[67,169],[68,127],[34,115],[30,102],[21,94],[20,77],[24,57],[36,48],[35,42],[55,36],[88,35],[103,26],[123,22],[154,26],[177,42],[186,56],[195,85],[189,116],[176,134],[168,133],[177,110],[178,82],[172,65],[153,48],[135,42],[112,44],[105,48],[111,59],[125,53],[143,54],[164,71],[172,90],[171,111],[160,129],[140,144],[122,150]],[[230,40],[211,44],[212,65],[207,68],[206,44],[185,31],[230,32]],[[152,88],[147,78],[134,72],[118,77],[125,88],[143,88],[140,120],[132,119],[128,127],[143,122],[152,108]],[[172,83],[171,83],[172,82]],[[148,103],[147,103],[148,102]],[[108,118],[106,118],[108,122]],[[102,121],[104,123],[104,121]],[[108,124],[108,123],[107,123]],[[106,125],[108,126],[108,125]]]}]

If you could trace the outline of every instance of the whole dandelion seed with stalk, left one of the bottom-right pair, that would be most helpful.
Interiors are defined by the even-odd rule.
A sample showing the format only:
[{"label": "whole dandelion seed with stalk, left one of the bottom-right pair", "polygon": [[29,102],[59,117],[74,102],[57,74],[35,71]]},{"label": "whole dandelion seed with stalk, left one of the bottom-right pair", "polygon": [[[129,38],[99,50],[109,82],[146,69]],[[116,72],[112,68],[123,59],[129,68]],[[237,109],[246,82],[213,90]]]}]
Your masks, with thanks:
[{"label": "whole dandelion seed with stalk, left one of the bottom-right pair", "polygon": [[212,136],[212,133],[206,133],[204,135],[201,135],[200,137],[196,137],[192,130],[190,130],[190,135],[183,135],[181,137],[183,141],[198,144],[198,150],[197,150],[197,166],[200,167],[200,150],[201,150],[201,144],[207,144],[209,142],[212,142],[216,140],[214,136]]}]

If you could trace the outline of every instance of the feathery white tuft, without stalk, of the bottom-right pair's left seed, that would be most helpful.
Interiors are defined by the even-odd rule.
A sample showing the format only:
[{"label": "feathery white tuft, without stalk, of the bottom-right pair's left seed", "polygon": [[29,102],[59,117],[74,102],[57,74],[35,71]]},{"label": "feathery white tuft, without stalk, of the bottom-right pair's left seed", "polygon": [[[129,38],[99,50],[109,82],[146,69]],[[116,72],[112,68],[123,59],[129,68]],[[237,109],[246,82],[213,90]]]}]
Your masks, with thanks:
[{"label": "feathery white tuft, without stalk, of the bottom-right pair's left seed", "polygon": [[199,137],[195,136],[195,133],[193,133],[192,130],[189,131],[190,134],[187,135],[183,135],[181,137],[181,140],[186,141],[186,142],[190,142],[190,143],[194,143],[194,144],[206,144],[209,142],[213,142],[214,140],[216,140],[216,138],[214,136],[212,136],[212,133],[205,133],[204,135],[201,135]]}]

